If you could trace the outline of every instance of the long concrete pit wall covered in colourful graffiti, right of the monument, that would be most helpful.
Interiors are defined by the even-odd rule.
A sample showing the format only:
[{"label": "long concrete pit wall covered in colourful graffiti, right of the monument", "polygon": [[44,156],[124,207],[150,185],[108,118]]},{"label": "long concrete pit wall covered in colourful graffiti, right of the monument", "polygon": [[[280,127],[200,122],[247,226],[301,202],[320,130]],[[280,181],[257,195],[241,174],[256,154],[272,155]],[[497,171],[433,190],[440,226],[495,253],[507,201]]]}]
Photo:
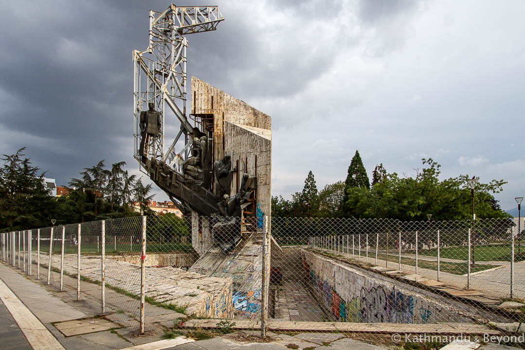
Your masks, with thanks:
[{"label": "long concrete pit wall covered in colourful graffiti, right of the monument", "polygon": [[472,322],[466,311],[375,278],[337,260],[301,251],[304,278],[320,304],[346,322]]}]

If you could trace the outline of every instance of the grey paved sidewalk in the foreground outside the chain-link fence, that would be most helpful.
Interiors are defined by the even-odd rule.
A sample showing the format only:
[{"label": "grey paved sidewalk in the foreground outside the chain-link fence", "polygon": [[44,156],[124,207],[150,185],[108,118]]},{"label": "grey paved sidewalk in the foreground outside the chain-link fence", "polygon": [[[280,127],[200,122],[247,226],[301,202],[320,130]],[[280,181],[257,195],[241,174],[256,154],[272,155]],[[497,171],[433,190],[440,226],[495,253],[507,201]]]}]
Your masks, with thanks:
[{"label": "grey paved sidewalk in the foreground outside the chain-link fence", "polygon": [[[0,299],[9,306],[9,311],[4,309],[2,312],[0,309],[0,347],[3,350],[324,350],[328,349],[328,345],[333,350],[385,350],[385,347],[351,340],[340,333],[300,333],[290,336],[268,332],[269,338],[261,341],[260,331],[246,330],[194,341],[182,336],[161,340],[162,326],[156,324],[158,328],[154,329],[151,323],[145,336],[137,336],[136,327],[123,328],[117,324],[113,325],[119,329],[97,331],[104,323],[111,322],[97,318],[98,310],[91,306],[93,303],[76,302],[72,295],[59,292],[53,285],[45,283],[45,279],[30,279],[19,269],[0,263]],[[28,321],[30,317],[34,317],[34,320]],[[38,324],[41,324],[42,329],[39,329]],[[92,327],[93,333],[65,336],[57,327],[61,327],[66,334]]]}]

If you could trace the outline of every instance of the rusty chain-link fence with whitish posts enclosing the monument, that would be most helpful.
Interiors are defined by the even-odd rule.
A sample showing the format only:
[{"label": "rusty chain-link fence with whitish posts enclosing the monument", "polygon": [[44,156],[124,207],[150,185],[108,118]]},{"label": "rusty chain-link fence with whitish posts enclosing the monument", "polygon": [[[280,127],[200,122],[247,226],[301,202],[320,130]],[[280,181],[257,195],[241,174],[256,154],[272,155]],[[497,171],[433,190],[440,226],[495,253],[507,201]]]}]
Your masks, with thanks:
[{"label": "rusty chain-link fence with whitish posts enclosing the monument", "polygon": [[2,257],[128,326],[522,331],[525,252],[511,220],[145,219],[7,232]]}]

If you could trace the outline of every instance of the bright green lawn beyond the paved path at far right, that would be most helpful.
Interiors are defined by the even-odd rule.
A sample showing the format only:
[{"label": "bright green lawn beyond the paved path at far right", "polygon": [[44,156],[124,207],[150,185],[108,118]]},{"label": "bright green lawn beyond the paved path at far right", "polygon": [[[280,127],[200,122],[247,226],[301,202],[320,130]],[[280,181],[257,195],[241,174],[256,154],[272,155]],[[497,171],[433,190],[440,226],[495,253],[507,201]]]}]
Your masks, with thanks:
[{"label": "bright green lawn beyond the paved path at far right", "polygon": [[[525,251],[523,247],[522,251]],[[518,253],[518,249],[514,248],[515,254]],[[480,261],[510,261],[510,246],[509,245],[484,245],[484,246],[475,246],[475,258]],[[405,253],[415,254],[415,250],[403,251]],[[418,252],[420,255],[426,255],[430,257],[437,257],[437,249],[430,250],[420,250]],[[454,246],[454,247],[445,247],[441,248],[439,256],[442,258],[448,259],[459,259],[467,260],[468,259],[468,247],[466,246]],[[523,256],[518,257],[514,256],[516,261],[523,260]]]}]

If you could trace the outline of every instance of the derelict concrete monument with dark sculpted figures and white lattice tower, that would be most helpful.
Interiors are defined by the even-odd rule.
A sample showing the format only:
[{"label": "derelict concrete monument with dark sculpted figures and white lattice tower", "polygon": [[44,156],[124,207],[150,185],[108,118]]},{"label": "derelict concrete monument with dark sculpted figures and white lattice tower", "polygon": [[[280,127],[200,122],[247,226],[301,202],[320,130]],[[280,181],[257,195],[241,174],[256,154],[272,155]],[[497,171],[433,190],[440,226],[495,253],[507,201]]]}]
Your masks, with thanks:
[{"label": "derelict concrete monument with dark sculpted figures and white lattice tower", "polygon": [[[271,214],[271,118],[196,77],[186,110],[186,35],[215,30],[222,20],[217,6],[150,11],[149,46],[133,51],[134,156],[192,218],[200,258],[189,271],[232,278],[235,315],[255,318],[262,218]],[[166,152],[165,106],[180,125]]]}]

